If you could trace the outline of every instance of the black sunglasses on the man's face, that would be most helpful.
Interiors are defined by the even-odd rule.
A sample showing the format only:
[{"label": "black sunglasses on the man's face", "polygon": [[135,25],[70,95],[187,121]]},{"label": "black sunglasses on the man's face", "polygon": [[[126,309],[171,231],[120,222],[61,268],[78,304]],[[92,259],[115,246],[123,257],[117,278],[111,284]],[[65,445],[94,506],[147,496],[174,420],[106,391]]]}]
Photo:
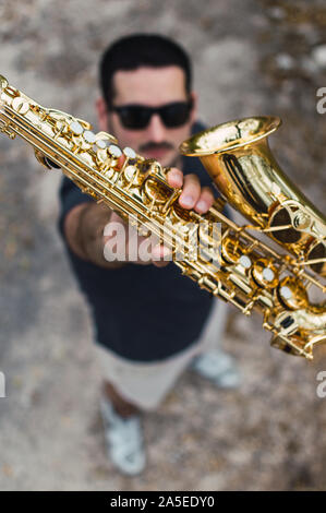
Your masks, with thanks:
[{"label": "black sunglasses on the man's face", "polygon": [[184,124],[190,117],[193,103],[173,102],[162,107],[147,107],[146,105],[112,106],[111,110],[118,114],[121,124],[131,130],[145,129],[154,114],[158,114],[167,128],[176,128]]}]

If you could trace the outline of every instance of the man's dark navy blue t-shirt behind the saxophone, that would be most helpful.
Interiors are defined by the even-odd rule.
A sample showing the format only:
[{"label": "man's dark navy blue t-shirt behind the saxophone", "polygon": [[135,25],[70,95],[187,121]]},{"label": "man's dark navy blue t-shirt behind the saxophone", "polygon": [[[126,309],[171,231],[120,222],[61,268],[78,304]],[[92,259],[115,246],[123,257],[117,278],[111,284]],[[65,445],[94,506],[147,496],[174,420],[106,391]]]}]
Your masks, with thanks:
[{"label": "man's dark navy blue t-shirt behind the saxophone", "polygon": [[[204,127],[195,123],[193,133]],[[195,172],[202,186],[212,180],[198,158],[182,157],[184,174]],[[60,232],[67,213],[80,203],[94,201],[67,177],[60,188]],[[64,237],[63,237],[64,238]],[[209,293],[181,274],[170,262],[166,267],[128,263],[104,269],[68,255],[95,322],[97,342],[134,361],[168,358],[195,343],[213,306]]]}]

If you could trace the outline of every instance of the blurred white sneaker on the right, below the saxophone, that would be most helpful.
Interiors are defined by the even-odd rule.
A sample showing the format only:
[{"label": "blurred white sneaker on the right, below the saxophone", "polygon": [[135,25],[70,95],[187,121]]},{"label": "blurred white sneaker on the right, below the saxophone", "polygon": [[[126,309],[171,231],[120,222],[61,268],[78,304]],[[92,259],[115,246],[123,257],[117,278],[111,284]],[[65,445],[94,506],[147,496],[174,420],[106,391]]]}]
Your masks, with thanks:
[{"label": "blurred white sneaker on the right, below the saxophone", "polygon": [[222,350],[204,353],[195,358],[192,368],[221,389],[237,389],[241,382],[233,358]]}]

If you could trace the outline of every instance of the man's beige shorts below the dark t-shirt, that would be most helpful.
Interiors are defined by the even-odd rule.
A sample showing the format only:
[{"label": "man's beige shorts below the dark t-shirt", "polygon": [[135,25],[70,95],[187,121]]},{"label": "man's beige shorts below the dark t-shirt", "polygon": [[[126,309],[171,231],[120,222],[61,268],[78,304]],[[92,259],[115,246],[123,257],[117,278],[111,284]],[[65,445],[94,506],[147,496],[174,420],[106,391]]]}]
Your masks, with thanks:
[{"label": "man's beige shorts below the dark t-shirt", "polygon": [[213,299],[213,301],[214,306],[201,339],[190,348],[162,361],[142,363],[126,360],[110,349],[95,344],[95,350],[104,368],[105,379],[113,384],[125,401],[145,410],[157,408],[196,355],[219,347],[228,305],[217,299]]}]

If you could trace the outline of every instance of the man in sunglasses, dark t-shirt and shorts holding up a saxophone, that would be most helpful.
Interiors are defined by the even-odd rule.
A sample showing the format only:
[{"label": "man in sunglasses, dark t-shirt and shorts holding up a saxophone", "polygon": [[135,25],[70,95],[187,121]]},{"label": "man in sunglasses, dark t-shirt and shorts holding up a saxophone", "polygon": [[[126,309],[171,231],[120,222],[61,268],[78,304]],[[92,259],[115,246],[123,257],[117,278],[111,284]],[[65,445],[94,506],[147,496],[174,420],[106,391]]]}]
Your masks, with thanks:
[{"label": "man in sunglasses, dark t-shirt and shorts holding up a saxophone", "polygon": [[[99,128],[116,135],[120,147],[130,146],[171,167],[167,179],[183,189],[180,205],[207,212],[214,202],[210,179],[198,159],[178,152],[191,132],[204,128],[195,122],[196,96],[184,51],[156,35],[120,39],[104,53],[100,86]],[[194,357],[208,349],[202,335],[215,300],[173,263],[167,265],[160,247],[154,248],[146,265],[140,259],[106,260],[110,228],[124,225],[122,219],[67,178],[61,202],[60,229],[93,310],[106,373],[101,414],[109,455],[121,472],[134,475],[145,465],[140,411],[157,407]],[[126,247],[131,243],[126,240]],[[225,305],[217,302],[215,338],[226,318]],[[196,359],[195,368],[221,386],[238,383],[232,361],[222,351]]]}]

